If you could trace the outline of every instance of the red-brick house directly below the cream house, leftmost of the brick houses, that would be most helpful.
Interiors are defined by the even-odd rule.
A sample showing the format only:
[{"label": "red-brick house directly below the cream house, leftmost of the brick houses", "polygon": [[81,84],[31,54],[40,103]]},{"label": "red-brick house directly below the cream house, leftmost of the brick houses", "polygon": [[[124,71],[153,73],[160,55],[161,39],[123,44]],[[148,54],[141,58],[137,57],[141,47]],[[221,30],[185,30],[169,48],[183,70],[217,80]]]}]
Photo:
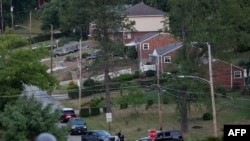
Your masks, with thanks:
[{"label": "red-brick house directly below the cream house, leftmost of the brick houses", "polygon": [[149,54],[154,49],[162,48],[168,44],[179,42],[179,39],[173,37],[169,33],[149,32],[143,36],[135,37],[133,41],[125,46],[135,47],[139,58],[139,67],[142,70],[143,65],[149,62]]}]

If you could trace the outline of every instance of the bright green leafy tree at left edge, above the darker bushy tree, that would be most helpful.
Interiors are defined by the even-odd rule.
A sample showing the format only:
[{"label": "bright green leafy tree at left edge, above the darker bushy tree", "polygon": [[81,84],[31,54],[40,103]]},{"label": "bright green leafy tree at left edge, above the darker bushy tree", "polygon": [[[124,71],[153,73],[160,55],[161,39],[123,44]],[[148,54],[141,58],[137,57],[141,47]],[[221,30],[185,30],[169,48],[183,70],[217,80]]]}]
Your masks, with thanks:
[{"label": "bright green leafy tree at left edge, above the darker bushy tree", "polygon": [[35,85],[51,92],[58,81],[46,72],[48,67],[40,62],[49,52],[45,49],[16,49],[27,41],[20,35],[11,34],[11,31],[2,34],[0,40],[0,109],[15,100],[25,85]]}]

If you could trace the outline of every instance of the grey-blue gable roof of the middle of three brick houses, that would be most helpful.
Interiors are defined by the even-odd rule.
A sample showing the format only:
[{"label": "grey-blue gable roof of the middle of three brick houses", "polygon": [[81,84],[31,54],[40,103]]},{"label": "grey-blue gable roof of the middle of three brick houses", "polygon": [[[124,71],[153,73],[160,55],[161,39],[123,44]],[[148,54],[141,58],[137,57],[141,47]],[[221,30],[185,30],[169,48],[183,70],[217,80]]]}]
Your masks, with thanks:
[{"label": "grey-blue gable roof of the middle of three brick houses", "polygon": [[156,48],[153,52],[153,55],[154,56],[163,55],[163,54],[169,53],[173,50],[176,50],[180,47],[182,47],[182,42],[172,43],[172,44],[166,45],[162,48]]}]

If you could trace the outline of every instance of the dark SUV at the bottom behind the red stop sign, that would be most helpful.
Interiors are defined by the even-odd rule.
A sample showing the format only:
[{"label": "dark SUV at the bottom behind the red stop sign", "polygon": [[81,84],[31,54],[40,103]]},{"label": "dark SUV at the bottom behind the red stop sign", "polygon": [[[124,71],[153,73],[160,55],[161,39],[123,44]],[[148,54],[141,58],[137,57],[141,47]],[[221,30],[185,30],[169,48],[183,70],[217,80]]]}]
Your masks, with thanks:
[{"label": "dark SUV at the bottom behind the red stop sign", "polygon": [[[157,137],[154,141],[184,141],[181,131],[179,130],[163,130],[157,131]],[[138,141],[152,141],[150,137],[142,137]]]}]

